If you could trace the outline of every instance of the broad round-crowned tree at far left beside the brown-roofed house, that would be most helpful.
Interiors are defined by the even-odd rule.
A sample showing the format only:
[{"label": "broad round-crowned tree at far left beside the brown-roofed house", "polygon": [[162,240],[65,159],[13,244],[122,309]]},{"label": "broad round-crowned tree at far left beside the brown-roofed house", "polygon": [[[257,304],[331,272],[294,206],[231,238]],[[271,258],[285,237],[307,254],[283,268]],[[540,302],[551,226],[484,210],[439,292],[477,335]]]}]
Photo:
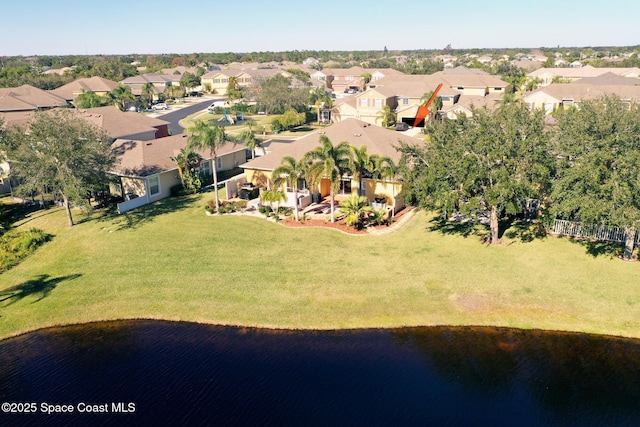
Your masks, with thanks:
[{"label": "broad round-crowned tree at far left beside the brown-roofed house", "polygon": [[13,128],[4,149],[11,175],[27,187],[46,186],[60,197],[73,226],[71,204],[87,205],[88,195],[109,181],[107,174],[116,164],[110,143],[102,129],[59,110],[36,113],[28,131]]}]

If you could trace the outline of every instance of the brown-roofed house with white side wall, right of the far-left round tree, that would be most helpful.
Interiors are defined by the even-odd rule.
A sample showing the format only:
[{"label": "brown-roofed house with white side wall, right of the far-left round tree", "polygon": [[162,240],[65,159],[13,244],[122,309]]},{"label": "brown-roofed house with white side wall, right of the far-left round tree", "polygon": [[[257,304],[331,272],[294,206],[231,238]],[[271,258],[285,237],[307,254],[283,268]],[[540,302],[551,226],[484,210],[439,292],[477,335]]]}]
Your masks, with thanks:
[{"label": "brown-roofed house with white side wall, right of the far-left round tree", "polygon": [[[111,193],[123,198],[118,212],[123,213],[153,203],[171,195],[171,188],[180,184],[178,168],[173,157],[187,146],[186,133],[156,140],[118,139],[113,148],[118,156],[117,169],[112,174],[119,185],[112,185]],[[209,152],[198,151],[202,161],[198,167],[203,175],[211,176],[213,167]],[[247,159],[245,146],[227,144],[217,150],[218,172],[238,167]]]}]

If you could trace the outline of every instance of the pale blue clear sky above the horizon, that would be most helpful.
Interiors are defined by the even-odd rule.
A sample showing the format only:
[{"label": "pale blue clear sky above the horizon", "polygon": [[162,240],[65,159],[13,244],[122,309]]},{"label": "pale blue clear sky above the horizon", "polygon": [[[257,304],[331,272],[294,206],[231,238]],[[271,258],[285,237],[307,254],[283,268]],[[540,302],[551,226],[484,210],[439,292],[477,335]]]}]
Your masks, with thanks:
[{"label": "pale blue clear sky above the horizon", "polygon": [[638,0],[3,0],[0,56],[640,45]]}]

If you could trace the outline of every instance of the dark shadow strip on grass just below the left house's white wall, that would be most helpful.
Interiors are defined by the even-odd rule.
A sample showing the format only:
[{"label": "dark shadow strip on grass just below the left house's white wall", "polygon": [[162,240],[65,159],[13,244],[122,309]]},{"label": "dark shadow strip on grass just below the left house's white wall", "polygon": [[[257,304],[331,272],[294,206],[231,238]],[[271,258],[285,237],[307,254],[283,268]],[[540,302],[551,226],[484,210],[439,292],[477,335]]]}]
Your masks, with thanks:
[{"label": "dark shadow strip on grass just below the left house's white wall", "polygon": [[[117,231],[131,230],[149,224],[161,215],[187,209],[193,206],[196,200],[195,196],[169,197],[122,214],[119,214],[114,206],[105,210],[102,215],[95,219],[112,223]],[[93,219],[88,218],[87,220]]]}]

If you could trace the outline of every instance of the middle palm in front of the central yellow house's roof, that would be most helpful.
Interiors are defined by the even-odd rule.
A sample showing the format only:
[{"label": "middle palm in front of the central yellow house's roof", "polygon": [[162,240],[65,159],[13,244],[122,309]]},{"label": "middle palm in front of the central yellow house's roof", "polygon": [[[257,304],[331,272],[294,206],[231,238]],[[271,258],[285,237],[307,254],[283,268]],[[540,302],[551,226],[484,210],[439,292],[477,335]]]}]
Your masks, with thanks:
[{"label": "middle palm in front of the central yellow house's roof", "polygon": [[326,135],[320,136],[320,144],[305,154],[305,161],[310,163],[307,173],[318,181],[320,178],[329,180],[331,222],[335,222],[335,193],[340,189],[342,176],[350,170],[351,148],[346,141],[334,146]]}]

